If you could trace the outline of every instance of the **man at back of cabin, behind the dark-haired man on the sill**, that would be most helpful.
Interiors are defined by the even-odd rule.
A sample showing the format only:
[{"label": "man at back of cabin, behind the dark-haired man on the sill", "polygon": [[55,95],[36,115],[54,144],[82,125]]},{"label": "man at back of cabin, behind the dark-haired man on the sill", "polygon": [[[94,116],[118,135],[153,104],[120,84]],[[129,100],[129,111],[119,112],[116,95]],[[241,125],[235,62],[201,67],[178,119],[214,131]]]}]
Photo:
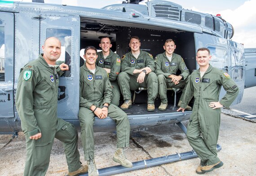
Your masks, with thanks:
[{"label": "man at back of cabin, behind the dark-haired man on the sill", "polygon": [[112,100],[111,104],[119,105],[120,89],[117,83],[117,76],[121,69],[121,59],[118,54],[114,53],[110,48],[112,47],[110,38],[103,36],[101,38],[100,47],[101,52],[98,52],[96,65],[102,67],[109,75],[109,80],[112,87]]}]

